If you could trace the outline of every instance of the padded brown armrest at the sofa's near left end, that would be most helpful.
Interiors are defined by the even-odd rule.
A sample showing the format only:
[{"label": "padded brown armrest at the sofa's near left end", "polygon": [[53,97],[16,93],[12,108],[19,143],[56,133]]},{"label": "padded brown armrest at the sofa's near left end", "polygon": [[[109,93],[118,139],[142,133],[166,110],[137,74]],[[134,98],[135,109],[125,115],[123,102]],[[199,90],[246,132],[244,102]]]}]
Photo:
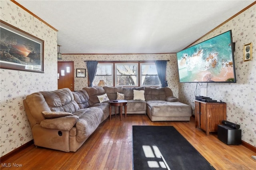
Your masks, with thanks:
[{"label": "padded brown armrest at the sofa's near left end", "polygon": [[40,125],[43,128],[57,129],[57,130],[70,130],[78,121],[78,116],[65,116],[54,119],[44,119]]}]

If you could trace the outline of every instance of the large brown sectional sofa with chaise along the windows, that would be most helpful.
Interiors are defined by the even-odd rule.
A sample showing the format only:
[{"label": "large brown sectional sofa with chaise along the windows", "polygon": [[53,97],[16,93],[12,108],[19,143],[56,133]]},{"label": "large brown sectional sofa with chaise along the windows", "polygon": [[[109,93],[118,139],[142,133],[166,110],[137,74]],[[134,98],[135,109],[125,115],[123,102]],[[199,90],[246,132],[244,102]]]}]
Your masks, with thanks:
[{"label": "large brown sectional sofa with chaise along the windows", "polygon": [[[133,90],[143,90],[145,101],[133,100]],[[106,93],[110,100],[114,100],[117,92],[128,100],[127,114],[147,114],[152,121],[189,121],[192,115],[191,107],[178,102],[168,87],[84,87],[76,92],[68,88],[42,91],[28,95],[24,100],[34,144],[76,152],[109,116],[108,102],[100,103],[97,96]]]}]

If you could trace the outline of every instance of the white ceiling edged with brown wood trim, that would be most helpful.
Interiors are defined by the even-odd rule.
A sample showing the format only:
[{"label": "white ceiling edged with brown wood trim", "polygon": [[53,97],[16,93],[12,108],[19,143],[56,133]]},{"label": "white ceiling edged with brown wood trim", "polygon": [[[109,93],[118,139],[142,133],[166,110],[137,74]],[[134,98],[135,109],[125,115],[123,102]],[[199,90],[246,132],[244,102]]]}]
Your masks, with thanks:
[{"label": "white ceiling edged with brown wood trim", "polygon": [[58,30],[61,53],[176,53],[254,1],[16,0]]}]

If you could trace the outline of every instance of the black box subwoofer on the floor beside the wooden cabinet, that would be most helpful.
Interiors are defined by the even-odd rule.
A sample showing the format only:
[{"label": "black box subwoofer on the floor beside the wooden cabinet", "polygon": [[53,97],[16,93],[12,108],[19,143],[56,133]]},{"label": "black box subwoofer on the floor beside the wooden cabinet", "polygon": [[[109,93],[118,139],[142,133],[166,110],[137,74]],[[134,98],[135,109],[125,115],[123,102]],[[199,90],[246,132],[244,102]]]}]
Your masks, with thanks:
[{"label": "black box subwoofer on the floor beside the wooden cabinet", "polygon": [[218,125],[218,139],[226,144],[241,144],[241,129],[234,129],[225,125]]}]

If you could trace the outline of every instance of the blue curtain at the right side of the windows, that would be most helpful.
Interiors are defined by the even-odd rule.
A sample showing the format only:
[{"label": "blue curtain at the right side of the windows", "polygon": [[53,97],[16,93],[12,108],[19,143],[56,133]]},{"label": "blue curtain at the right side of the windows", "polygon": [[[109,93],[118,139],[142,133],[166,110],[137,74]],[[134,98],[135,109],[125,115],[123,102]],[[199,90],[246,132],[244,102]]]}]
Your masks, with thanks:
[{"label": "blue curtain at the right side of the windows", "polygon": [[162,87],[167,87],[167,81],[166,81],[166,60],[157,60],[155,61],[156,64],[156,71],[158,73],[159,80],[161,81]]}]

